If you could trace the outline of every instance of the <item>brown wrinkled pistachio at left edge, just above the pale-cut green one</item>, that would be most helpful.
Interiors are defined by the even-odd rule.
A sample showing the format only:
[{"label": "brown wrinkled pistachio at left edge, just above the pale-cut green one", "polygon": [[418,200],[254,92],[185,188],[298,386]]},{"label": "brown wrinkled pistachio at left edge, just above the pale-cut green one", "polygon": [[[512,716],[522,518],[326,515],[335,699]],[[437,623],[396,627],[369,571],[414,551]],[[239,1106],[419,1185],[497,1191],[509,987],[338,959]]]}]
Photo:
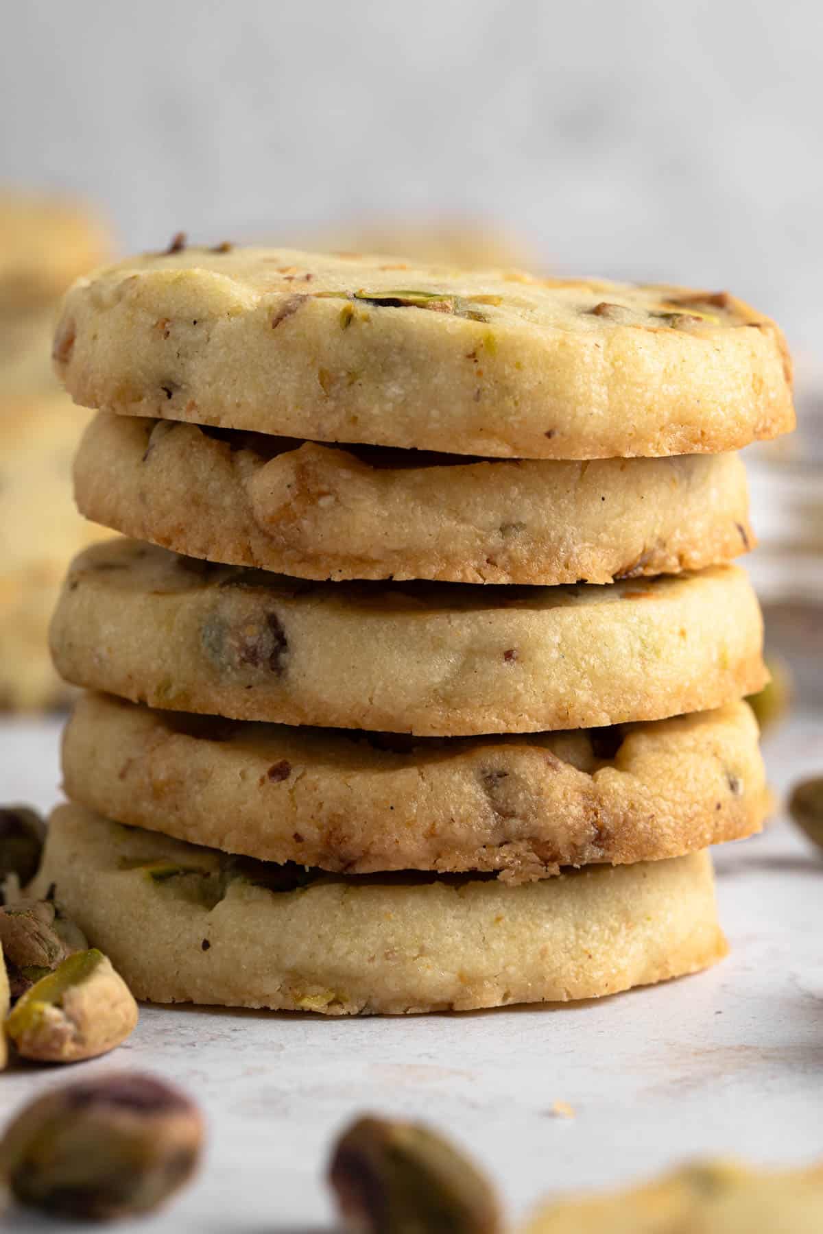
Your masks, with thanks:
[{"label": "brown wrinkled pistachio at left edge, just above the pale-cut green one", "polygon": [[89,945],[83,930],[63,917],[53,900],[17,900],[1,907],[0,943],[12,998]]}]

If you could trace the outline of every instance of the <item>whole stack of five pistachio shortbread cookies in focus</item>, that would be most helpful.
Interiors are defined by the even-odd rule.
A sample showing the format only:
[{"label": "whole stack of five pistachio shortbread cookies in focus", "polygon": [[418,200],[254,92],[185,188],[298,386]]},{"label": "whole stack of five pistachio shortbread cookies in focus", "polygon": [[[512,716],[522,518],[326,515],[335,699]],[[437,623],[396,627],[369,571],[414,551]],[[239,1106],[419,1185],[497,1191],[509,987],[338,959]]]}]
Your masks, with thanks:
[{"label": "whole stack of five pistachio shortbread cookies in focus", "polygon": [[723,954],[706,849],[767,801],[728,452],[792,427],[772,322],[176,241],[75,284],[56,354],[99,408],[80,510],[130,538],[53,621],[89,692],[39,882],[138,997],[464,1009]]}]

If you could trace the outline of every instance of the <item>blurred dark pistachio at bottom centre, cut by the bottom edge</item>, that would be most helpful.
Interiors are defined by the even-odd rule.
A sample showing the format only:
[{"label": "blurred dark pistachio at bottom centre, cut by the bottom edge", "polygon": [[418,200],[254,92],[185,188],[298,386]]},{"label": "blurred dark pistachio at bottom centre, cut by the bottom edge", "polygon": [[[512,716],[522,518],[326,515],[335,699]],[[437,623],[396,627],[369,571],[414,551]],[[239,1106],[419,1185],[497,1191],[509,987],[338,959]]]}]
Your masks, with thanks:
[{"label": "blurred dark pistachio at bottom centre, cut by the bottom edge", "polygon": [[329,1182],[344,1223],[368,1234],[497,1234],[489,1178],[437,1132],[365,1117],[339,1138]]}]

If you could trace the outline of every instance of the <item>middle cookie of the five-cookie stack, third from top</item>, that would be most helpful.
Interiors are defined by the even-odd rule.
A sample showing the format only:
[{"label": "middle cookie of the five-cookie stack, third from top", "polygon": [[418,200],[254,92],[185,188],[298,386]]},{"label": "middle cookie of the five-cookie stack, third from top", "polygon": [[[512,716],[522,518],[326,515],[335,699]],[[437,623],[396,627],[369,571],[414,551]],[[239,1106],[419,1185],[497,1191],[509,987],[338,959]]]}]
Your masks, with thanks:
[{"label": "middle cookie of the five-cookie stack, third from top", "polygon": [[117,539],[73,563],[51,644],[67,681],[152,707],[436,737],[661,719],[765,680],[737,566],[610,587],[300,582]]}]

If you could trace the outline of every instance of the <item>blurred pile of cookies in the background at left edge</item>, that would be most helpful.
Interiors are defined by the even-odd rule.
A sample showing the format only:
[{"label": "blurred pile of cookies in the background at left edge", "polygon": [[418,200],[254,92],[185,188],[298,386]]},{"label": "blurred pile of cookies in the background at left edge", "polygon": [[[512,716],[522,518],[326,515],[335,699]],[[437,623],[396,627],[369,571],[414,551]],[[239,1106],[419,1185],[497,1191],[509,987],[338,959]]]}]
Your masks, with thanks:
[{"label": "blurred pile of cookies in the background at left edge", "polygon": [[63,292],[112,255],[80,202],[0,189],[0,710],[59,706],[48,622],[79,548],[106,533],[77,513],[72,457],[89,418],[52,371]]}]

